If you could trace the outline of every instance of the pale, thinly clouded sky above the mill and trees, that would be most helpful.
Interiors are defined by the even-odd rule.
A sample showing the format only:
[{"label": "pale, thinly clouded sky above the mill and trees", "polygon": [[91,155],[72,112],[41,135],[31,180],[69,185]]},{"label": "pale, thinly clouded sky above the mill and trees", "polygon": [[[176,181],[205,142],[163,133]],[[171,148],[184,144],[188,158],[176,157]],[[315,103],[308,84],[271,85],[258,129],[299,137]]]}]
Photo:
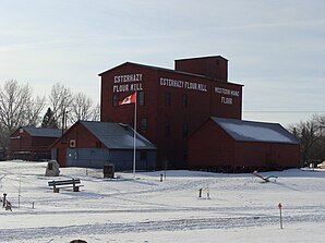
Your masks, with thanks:
[{"label": "pale, thinly clouded sky above the mill and trees", "polygon": [[0,0],[0,82],[97,102],[98,73],[125,61],[220,54],[243,119],[287,125],[325,114],[324,13],[324,0]]}]

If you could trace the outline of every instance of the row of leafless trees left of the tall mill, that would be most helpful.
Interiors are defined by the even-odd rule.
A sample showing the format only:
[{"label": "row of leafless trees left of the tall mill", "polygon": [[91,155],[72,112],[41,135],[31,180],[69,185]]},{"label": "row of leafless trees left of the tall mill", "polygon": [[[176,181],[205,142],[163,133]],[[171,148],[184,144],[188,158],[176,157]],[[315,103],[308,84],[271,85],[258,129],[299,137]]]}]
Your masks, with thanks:
[{"label": "row of leafless trees left of the tall mill", "polygon": [[21,126],[62,129],[77,120],[99,120],[99,105],[94,105],[84,93],[73,94],[56,83],[48,97],[34,97],[28,84],[0,84],[0,149],[9,148],[10,135]]}]

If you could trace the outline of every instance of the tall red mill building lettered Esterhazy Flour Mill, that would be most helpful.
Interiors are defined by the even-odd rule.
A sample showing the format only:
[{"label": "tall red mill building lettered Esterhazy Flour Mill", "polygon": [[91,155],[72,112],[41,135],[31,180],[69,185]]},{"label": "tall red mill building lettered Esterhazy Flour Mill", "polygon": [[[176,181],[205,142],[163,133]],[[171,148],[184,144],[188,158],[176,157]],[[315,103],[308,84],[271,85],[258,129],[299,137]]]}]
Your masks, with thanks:
[{"label": "tall red mill building lettered Esterhazy Flour Mill", "polygon": [[228,82],[220,57],[174,61],[174,70],[125,62],[101,74],[101,122],[133,125],[134,105],[119,100],[137,92],[136,130],[157,147],[158,168],[188,165],[188,139],[208,118],[241,120],[242,85]]}]

